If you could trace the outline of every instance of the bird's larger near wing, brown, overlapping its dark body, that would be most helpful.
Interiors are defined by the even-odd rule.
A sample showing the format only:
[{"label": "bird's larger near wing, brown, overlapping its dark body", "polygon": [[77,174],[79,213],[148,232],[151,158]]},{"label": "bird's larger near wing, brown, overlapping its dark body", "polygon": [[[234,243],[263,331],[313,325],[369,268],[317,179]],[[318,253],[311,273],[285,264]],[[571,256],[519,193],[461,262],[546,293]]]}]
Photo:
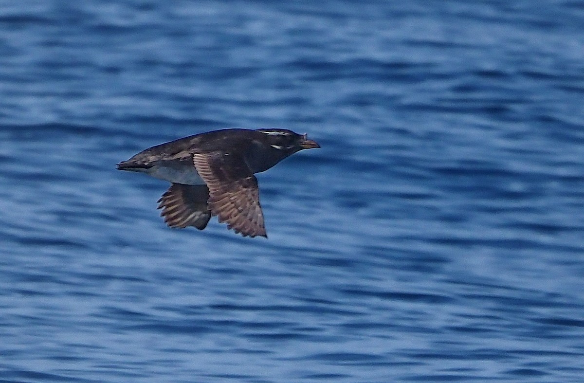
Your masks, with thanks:
[{"label": "bird's larger near wing, brown, overlapping its dark body", "polygon": [[214,151],[193,154],[194,166],[209,188],[208,207],[219,222],[246,236],[266,235],[258,179],[241,155]]}]

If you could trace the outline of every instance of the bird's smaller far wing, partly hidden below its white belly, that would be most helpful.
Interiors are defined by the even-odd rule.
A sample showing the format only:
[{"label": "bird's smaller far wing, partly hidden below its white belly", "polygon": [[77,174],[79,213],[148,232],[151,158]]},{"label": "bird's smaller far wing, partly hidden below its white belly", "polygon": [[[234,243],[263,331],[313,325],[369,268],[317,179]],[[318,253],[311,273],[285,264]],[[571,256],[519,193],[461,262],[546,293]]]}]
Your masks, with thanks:
[{"label": "bird's smaller far wing, partly hidden below its white belly", "polygon": [[164,222],[172,228],[194,226],[203,230],[211,218],[207,207],[209,189],[206,185],[173,183],[158,200]]}]

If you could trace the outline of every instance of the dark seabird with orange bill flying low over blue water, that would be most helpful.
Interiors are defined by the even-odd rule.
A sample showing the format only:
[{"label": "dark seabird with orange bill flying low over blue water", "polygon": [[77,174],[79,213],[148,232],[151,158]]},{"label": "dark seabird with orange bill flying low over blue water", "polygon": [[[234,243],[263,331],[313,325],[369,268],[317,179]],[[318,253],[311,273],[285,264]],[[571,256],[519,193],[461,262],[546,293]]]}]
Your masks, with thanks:
[{"label": "dark seabird with orange bill flying low over blue water", "polygon": [[230,128],[155,145],[116,165],[171,186],[157,201],[171,228],[207,227],[211,216],[242,236],[267,238],[255,173],[303,149],[321,146],[279,128]]}]

